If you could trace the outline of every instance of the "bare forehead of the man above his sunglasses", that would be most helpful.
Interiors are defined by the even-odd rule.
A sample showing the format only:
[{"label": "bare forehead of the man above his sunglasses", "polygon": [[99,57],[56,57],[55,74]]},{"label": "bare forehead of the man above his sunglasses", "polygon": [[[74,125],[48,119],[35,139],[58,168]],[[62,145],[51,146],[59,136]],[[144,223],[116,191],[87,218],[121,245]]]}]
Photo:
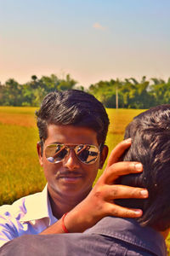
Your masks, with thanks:
[{"label": "bare forehead of the man above his sunglasses", "polygon": [[94,130],[74,125],[48,125],[48,137],[45,143],[87,143],[99,146],[97,133]]}]

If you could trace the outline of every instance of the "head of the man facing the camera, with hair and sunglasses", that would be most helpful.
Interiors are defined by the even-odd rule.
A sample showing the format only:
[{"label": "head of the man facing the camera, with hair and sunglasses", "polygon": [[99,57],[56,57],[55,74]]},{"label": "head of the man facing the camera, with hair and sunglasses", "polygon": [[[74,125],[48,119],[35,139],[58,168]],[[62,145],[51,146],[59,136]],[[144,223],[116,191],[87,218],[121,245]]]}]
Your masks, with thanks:
[{"label": "head of the man facing the camera, with hair and sunglasses", "polygon": [[[108,154],[108,125],[103,104],[87,92],[54,91],[42,100],[37,153],[54,201],[72,207],[88,195]],[[54,211],[59,218],[59,207]]]}]

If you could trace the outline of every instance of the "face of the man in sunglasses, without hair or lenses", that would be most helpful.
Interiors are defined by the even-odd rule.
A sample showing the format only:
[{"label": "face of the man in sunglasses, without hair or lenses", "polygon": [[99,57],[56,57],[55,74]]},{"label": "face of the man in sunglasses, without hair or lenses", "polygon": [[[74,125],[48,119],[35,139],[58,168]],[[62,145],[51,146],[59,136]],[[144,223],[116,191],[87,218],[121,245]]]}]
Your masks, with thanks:
[{"label": "face of the man in sunglasses, without hair or lenses", "polygon": [[[97,133],[86,127],[72,125],[48,125],[48,137],[43,144],[43,154],[38,148],[40,164],[48,181],[48,191],[53,195],[77,197],[82,200],[88,195],[99,167],[103,166],[105,155],[99,157],[93,164],[84,164],[77,159],[74,149],[70,149],[64,160],[51,163],[45,157],[45,148],[53,143],[90,144],[99,148]],[[104,150],[105,151],[105,150]]]}]

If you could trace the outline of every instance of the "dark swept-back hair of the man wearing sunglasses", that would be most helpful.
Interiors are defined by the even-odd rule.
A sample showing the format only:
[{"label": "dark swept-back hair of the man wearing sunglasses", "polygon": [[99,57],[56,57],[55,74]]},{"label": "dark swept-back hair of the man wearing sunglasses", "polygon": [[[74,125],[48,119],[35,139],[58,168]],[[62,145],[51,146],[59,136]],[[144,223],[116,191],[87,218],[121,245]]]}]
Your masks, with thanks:
[{"label": "dark swept-back hair of the man wearing sunglasses", "polygon": [[82,90],[64,90],[48,93],[37,111],[39,137],[48,137],[48,125],[75,125],[93,129],[101,147],[105,143],[109,119],[105,108],[94,96]]}]

